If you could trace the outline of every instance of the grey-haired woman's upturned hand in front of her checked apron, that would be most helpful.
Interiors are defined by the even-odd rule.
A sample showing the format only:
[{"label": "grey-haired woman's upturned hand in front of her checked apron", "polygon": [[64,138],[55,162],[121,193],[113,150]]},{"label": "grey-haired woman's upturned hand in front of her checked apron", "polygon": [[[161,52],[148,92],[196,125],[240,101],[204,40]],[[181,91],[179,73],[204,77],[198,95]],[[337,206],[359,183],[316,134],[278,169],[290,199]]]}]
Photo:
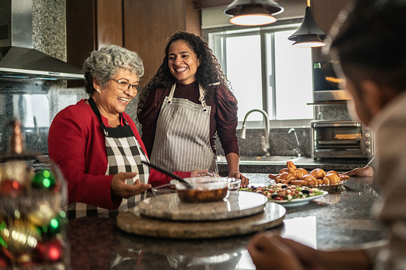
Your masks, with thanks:
[{"label": "grey-haired woman's upturned hand in front of her checked apron", "polygon": [[131,196],[141,194],[148,188],[151,188],[151,184],[140,183],[138,179],[133,185],[125,183],[125,179],[136,176],[137,173],[125,173],[121,172],[115,174],[111,180],[111,190],[115,195],[120,198],[128,199]]}]

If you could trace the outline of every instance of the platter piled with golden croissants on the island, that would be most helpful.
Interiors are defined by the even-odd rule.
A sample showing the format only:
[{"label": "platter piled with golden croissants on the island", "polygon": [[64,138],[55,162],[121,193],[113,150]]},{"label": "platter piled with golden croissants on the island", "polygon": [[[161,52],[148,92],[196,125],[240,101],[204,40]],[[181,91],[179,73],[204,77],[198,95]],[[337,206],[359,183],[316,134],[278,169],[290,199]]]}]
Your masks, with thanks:
[{"label": "platter piled with golden croissants on the island", "polygon": [[336,171],[325,172],[319,168],[309,173],[306,169],[296,168],[292,161],[286,162],[286,167],[280,170],[278,174],[269,174],[268,177],[271,180],[275,180],[276,183],[306,185],[323,190],[342,187],[350,178],[350,176],[337,173]]}]

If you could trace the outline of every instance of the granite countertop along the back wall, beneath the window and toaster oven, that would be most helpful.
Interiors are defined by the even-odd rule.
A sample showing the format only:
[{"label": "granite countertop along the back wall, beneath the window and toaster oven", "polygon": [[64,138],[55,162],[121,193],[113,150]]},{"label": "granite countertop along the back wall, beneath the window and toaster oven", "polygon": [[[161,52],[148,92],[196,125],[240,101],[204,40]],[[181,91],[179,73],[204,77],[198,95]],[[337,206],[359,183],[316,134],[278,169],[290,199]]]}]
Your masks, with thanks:
[{"label": "granite countertop along the back wall, beneath the window and toaster oven", "polygon": [[[355,168],[364,167],[368,163],[367,159],[317,159],[301,157],[293,160],[297,168],[313,170],[321,168],[325,171],[335,170],[337,172],[347,172]],[[228,174],[226,162],[217,162],[220,175]],[[245,162],[240,160],[240,172],[242,173],[278,173],[282,168],[286,168],[285,162]]]}]

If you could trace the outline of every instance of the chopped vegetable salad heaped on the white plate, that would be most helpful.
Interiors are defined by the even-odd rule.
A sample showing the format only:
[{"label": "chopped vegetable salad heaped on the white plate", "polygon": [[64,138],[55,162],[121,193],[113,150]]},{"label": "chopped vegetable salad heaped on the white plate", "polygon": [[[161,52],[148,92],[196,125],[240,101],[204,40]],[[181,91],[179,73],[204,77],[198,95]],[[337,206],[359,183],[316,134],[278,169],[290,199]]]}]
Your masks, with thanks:
[{"label": "chopped vegetable salad heaped on the white plate", "polygon": [[269,186],[251,186],[240,188],[243,191],[251,191],[265,195],[272,201],[290,201],[293,199],[303,199],[323,194],[323,191],[315,187],[287,185],[278,183]]}]

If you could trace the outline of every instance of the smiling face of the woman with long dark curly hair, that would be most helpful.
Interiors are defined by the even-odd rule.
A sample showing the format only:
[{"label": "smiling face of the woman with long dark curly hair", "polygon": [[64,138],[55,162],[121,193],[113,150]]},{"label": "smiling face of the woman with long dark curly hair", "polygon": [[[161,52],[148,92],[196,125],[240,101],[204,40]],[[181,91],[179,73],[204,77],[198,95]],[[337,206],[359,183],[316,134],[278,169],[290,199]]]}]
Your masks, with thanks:
[{"label": "smiling face of the woman with long dark curly hair", "polygon": [[168,66],[178,83],[193,83],[199,64],[196,54],[185,41],[175,41],[169,47]]}]

